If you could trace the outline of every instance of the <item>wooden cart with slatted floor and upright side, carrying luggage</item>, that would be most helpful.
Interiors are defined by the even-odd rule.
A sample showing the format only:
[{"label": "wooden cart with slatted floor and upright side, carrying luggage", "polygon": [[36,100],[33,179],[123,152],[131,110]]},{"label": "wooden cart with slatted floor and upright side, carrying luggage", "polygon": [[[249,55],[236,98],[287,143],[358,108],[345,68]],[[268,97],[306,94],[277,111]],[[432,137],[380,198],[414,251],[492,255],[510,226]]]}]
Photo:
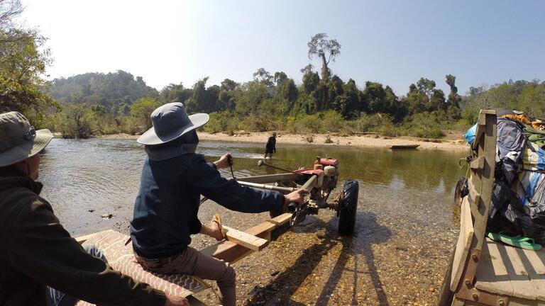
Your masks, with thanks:
[{"label": "wooden cart with slatted floor and upright side, carrying luggage", "polygon": [[485,237],[496,154],[496,113],[480,111],[461,203],[460,236],[437,305],[545,306],[545,252]]}]

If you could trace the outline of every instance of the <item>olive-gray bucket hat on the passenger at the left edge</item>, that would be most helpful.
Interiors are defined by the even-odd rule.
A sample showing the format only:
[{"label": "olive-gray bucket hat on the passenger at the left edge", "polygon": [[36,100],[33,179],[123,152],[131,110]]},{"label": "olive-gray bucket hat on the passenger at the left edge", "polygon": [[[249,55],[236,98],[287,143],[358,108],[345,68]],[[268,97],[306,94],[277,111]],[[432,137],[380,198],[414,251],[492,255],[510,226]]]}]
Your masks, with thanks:
[{"label": "olive-gray bucket hat on the passenger at the left edge", "polygon": [[52,139],[49,130],[35,130],[21,113],[0,114],[0,167],[33,157]]}]

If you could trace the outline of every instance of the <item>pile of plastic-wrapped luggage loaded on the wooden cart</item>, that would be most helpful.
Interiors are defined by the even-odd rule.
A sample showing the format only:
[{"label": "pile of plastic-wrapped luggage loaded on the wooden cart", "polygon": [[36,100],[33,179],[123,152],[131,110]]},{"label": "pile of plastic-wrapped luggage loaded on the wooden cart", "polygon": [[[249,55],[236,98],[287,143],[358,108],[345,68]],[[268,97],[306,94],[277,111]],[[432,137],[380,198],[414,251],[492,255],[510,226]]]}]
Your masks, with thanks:
[{"label": "pile of plastic-wrapped luggage loaded on the wooden cart", "polygon": [[[497,118],[495,185],[488,231],[523,235],[545,244],[545,150],[541,143],[531,141],[541,134],[530,127],[532,122],[533,118],[520,112],[507,111],[503,118]],[[471,129],[464,135],[466,140],[470,135]]]}]

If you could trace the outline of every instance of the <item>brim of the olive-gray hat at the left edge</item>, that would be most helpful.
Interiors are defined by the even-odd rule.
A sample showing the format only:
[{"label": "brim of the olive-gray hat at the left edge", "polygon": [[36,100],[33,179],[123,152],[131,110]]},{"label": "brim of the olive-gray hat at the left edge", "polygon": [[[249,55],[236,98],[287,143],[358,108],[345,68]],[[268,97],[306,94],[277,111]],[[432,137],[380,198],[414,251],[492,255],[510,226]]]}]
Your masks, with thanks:
[{"label": "brim of the olive-gray hat at the left edge", "polygon": [[53,139],[50,130],[37,130],[33,141],[25,142],[2,152],[0,154],[0,167],[9,166],[21,162],[38,154]]}]

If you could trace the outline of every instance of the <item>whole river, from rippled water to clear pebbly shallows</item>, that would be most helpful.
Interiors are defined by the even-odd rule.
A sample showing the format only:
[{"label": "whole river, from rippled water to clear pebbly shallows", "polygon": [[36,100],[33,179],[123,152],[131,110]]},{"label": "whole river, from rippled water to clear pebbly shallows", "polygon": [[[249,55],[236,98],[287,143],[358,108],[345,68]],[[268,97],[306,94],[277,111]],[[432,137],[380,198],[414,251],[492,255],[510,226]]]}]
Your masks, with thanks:
[{"label": "whole river, from rippled water to clear pebbly shallows", "polygon": [[[210,161],[234,157],[237,178],[272,174],[258,167],[263,145],[202,142]],[[309,216],[276,242],[236,263],[237,305],[432,305],[458,237],[453,188],[464,171],[463,151],[355,148],[278,144],[270,163],[297,169],[316,155],[340,160],[338,190],[360,183],[356,228],[340,237],[334,212]],[[116,229],[128,232],[145,153],[135,140],[53,140],[43,154],[42,196],[74,235]],[[230,177],[229,170],[221,174]],[[207,201],[199,219],[219,212],[225,225],[247,229],[268,213],[243,214]],[[111,219],[102,219],[103,214]],[[192,236],[192,246],[214,243]],[[210,305],[209,291],[199,298]]]}]

